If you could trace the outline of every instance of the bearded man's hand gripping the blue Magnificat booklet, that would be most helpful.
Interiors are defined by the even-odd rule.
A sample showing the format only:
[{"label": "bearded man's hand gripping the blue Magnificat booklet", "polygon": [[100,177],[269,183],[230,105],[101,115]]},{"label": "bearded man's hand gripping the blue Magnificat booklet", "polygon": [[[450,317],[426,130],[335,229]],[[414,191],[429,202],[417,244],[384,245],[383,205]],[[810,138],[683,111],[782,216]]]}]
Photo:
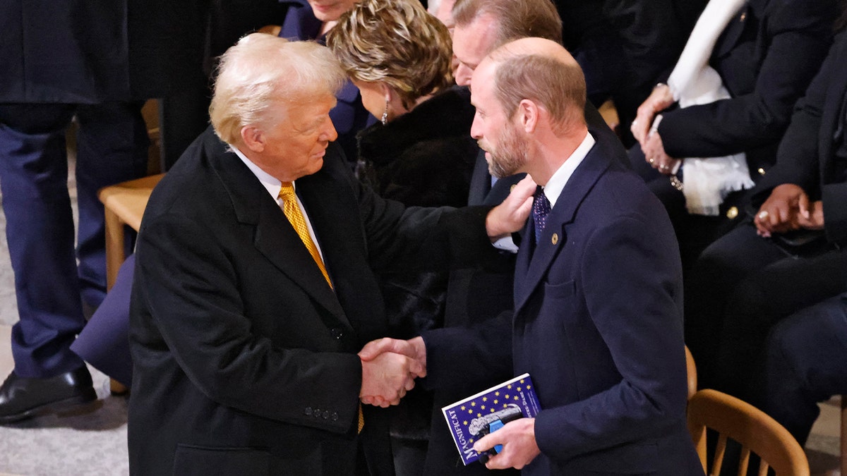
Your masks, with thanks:
[{"label": "bearded man's hand gripping the blue Magnificat booklet", "polygon": [[482,452],[502,445],[503,450],[485,463],[485,468],[523,468],[535,459],[541,450],[535,442],[535,418],[518,418],[503,428],[486,434],[473,443],[473,450]]}]

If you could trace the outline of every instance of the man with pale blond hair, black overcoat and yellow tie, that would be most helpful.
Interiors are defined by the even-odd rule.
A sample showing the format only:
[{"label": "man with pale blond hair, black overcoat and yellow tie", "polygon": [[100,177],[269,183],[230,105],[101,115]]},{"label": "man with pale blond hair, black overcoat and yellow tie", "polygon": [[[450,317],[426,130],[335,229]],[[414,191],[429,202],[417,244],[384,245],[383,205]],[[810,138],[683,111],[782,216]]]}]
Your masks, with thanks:
[{"label": "man with pale blond hair, black overcoat and yellow tie", "polygon": [[391,472],[385,418],[360,399],[396,404],[425,369],[357,357],[388,331],[371,269],[437,242],[441,222],[487,244],[526,204],[513,217],[404,209],[360,187],[331,144],[343,80],[313,42],[257,33],[224,53],[212,127],[153,191],[139,232],[132,473]]}]

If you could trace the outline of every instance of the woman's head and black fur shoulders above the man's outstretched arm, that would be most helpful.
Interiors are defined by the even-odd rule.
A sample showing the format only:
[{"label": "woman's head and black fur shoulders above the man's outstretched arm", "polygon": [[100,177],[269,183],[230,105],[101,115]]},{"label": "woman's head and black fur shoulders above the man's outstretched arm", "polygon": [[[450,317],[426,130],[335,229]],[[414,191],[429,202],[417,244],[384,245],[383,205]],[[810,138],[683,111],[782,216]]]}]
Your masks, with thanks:
[{"label": "woman's head and black fur shoulders above the man's outstretched arm", "polygon": [[407,206],[467,204],[476,144],[473,106],[452,86],[446,26],[412,0],[365,0],[327,46],[380,119],[359,134],[359,176]]}]

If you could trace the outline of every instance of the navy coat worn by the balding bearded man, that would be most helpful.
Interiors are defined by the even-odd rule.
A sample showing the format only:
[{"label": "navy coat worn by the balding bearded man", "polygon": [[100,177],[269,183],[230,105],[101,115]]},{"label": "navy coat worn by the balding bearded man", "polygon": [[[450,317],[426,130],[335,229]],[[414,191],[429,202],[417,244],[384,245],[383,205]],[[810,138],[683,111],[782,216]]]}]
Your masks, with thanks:
[{"label": "navy coat worn by the balding bearded man", "polygon": [[544,410],[535,420],[541,455],[526,474],[702,474],[685,424],[677,241],[661,203],[618,153],[598,138],[539,246],[529,220],[512,319],[424,335],[430,385],[504,360],[532,375]]}]

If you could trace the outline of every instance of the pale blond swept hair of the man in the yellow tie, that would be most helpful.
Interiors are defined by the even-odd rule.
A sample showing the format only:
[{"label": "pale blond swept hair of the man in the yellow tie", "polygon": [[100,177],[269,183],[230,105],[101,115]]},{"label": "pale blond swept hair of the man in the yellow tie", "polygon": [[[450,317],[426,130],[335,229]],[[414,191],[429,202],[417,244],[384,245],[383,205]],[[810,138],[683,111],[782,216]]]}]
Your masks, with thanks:
[{"label": "pale blond swept hair of the man in the yellow tie", "polygon": [[245,125],[268,125],[285,117],[285,104],[335,96],[346,81],[326,47],[288,42],[252,33],[220,58],[209,118],[215,133],[230,144],[241,141]]}]

